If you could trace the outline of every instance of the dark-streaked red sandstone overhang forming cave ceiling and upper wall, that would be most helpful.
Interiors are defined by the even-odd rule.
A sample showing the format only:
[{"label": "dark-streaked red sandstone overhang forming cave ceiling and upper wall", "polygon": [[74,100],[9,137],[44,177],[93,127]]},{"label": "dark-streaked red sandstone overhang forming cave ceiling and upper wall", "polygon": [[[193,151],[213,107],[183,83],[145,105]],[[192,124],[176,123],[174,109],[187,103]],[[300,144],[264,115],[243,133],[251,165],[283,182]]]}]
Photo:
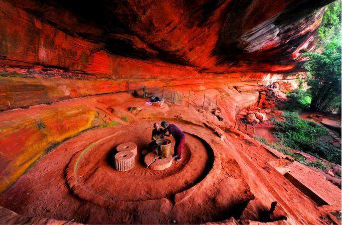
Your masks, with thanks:
[{"label": "dark-streaked red sandstone overhang forming cave ceiling and upper wall", "polygon": [[1,0],[0,110],[124,91],[128,79],[295,71],[329,2]]}]

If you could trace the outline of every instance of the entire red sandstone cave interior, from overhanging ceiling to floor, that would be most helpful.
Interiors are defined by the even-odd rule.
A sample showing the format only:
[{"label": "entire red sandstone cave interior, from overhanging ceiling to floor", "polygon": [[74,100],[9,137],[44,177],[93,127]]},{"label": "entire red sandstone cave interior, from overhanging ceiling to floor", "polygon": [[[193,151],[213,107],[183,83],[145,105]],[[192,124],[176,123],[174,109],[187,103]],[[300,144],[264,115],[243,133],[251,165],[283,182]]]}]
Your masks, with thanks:
[{"label": "entire red sandstone cave interior, from overhanging ceiling to floor", "polygon": [[[0,223],[341,223],[341,189],[234,129],[259,84],[296,86],[331,1],[0,0]],[[144,87],[182,104],[127,94]],[[164,119],[184,157],[153,171]],[[135,166],[116,171],[129,141]]]}]

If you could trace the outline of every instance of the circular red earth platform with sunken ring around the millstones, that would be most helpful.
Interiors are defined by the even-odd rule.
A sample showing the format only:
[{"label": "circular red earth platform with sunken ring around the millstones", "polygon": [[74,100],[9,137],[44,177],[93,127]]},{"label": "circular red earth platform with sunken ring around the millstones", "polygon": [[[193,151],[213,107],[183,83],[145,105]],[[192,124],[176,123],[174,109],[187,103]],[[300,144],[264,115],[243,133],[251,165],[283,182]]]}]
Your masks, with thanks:
[{"label": "circular red earth platform with sunken ring around the millstones", "polygon": [[[172,155],[156,159],[154,152],[147,154],[151,155],[150,161],[144,161],[150,158],[142,152],[151,141],[152,124],[141,121],[135,126],[121,126],[112,135],[79,151],[67,168],[67,182],[74,193],[95,203],[99,199],[106,202],[155,200],[169,198],[204,179],[213,165],[212,149],[188,133],[181,161],[172,161]],[[174,140],[171,141],[173,150]],[[138,151],[134,167],[123,173],[114,169],[120,166],[113,165],[113,148],[129,142],[136,143]],[[146,168],[149,163],[150,167]],[[121,170],[126,169],[122,166]]]}]

